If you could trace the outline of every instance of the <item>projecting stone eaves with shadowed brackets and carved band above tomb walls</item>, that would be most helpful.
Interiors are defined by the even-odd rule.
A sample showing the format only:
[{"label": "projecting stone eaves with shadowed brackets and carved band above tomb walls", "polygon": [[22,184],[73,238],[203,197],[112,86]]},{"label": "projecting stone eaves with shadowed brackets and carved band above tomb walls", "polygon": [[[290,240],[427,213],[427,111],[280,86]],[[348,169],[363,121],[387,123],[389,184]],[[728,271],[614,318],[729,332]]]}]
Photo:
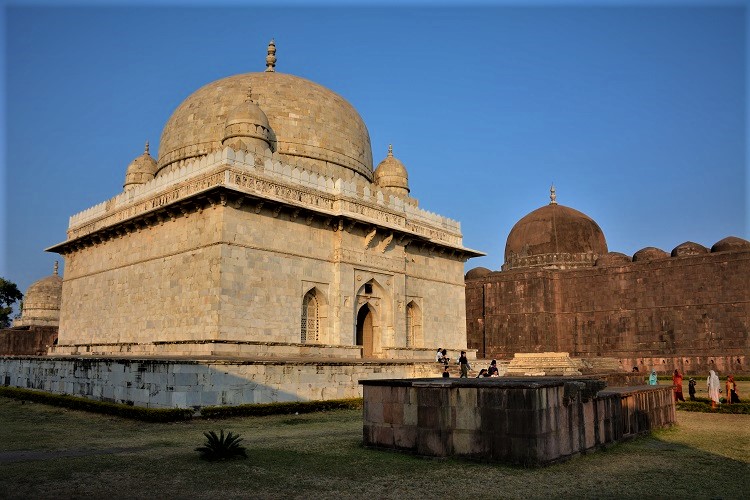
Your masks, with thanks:
[{"label": "projecting stone eaves with shadowed brackets and carved band above tomb walls", "polygon": [[404,212],[378,204],[374,197],[370,201],[285,182],[285,178],[249,171],[244,165],[222,163],[202,170],[199,175],[168,184],[151,196],[135,197],[121,207],[115,208],[117,198],[105,202],[100,215],[80,224],[71,224],[67,240],[46,251],[66,255],[132,231],[221,205],[235,209],[249,207],[256,213],[264,208],[270,209],[274,217],[283,211],[289,213],[290,219],[301,218],[308,224],[317,218],[333,230],[351,231],[359,225],[370,232],[387,233],[400,244],[417,244],[431,252],[461,260],[485,255],[463,247],[460,233],[414,220]]}]

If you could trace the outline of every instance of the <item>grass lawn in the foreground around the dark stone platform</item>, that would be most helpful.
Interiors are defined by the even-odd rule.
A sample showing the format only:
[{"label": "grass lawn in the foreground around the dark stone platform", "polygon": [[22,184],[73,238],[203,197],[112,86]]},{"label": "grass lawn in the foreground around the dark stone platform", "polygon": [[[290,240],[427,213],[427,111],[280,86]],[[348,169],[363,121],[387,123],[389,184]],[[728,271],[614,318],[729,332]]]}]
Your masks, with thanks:
[{"label": "grass lawn in the foreground around the dark stone platform", "polygon": [[[144,424],[0,397],[0,498],[748,498],[750,415],[524,469],[362,447],[359,411]],[[198,459],[205,430],[249,458]]]}]

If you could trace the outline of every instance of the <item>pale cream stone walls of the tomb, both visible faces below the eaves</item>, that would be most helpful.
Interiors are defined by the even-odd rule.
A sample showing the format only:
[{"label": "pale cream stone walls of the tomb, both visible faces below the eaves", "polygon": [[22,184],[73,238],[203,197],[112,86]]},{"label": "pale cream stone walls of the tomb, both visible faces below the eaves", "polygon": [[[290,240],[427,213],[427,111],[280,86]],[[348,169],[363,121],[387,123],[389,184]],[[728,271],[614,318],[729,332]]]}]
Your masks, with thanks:
[{"label": "pale cream stone walls of the tomb, both visible faces below the eaves", "polygon": [[[413,303],[419,334],[410,347],[466,348],[458,257],[407,251],[409,241],[390,231],[268,202],[189,205],[171,213],[66,255],[55,353],[127,354],[115,344],[171,342],[171,354],[191,355],[195,349],[174,343],[299,343],[302,302],[311,289],[321,344],[354,345],[357,312],[367,303],[377,329],[373,356],[406,347]],[[372,293],[364,291],[368,283]],[[76,344],[91,347],[69,347]],[[143,347],[132,353],[149,354]]]}]

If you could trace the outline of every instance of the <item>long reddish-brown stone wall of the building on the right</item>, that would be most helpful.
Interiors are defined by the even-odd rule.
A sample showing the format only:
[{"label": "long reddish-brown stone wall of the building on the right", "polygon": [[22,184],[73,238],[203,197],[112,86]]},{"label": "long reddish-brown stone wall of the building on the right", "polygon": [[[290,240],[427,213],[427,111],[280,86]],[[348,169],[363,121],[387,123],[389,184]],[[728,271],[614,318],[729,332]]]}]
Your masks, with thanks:
[{"label": "long reddish-brown stone wall of the building on the right", "polygon": [[480,356],[562,351],[624,369],[747,371],[750,253],[719,252],[466,282],[467,334]]}]

